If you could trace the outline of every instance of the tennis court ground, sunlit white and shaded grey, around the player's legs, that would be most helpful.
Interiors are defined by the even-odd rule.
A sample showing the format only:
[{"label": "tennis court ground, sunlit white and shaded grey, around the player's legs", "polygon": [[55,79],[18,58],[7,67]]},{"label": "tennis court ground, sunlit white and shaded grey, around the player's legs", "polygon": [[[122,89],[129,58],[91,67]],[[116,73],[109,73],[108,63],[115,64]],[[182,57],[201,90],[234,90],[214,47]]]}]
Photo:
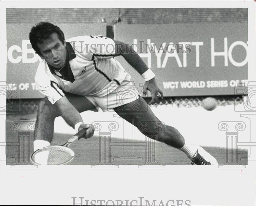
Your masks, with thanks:
[{"label": "tennis court ground, sunlit white and shaded grey, around the player's legs", "polygon": [[[211,112],[200,106],[187,108],[175,107],[174,104],[151,106],[151,109],[165,124],[174,126],[192,144],[202,146],[213,155],[219,165],[247,165],[246,147],[234,149],[235,142],[230,142],[232,140],[227,139],[226,131],[218,128],[220,122],[241,119],[239,113],[234,111],[234,105],[222,105]],[[101,124],[102,128],[95,131],[93,137],[82,138],[70,146],[75,157],[69,164],[190,165],[183,152],[143,136],[114,112],[89,111],[82,113],[82,117],[89,118],[91,123]],[[35,114],[7,117],[7,165],[30,164],[29,157],[34,151],[34,123]],[[112,132],[104,131],[104,124],[116,124],[117,127]],[[54,131],[51,145],[62,145],[75,133],[61,117],[56,118]],[[237,133],[237,141],[247,142],[248,132],[245,129]]]}]

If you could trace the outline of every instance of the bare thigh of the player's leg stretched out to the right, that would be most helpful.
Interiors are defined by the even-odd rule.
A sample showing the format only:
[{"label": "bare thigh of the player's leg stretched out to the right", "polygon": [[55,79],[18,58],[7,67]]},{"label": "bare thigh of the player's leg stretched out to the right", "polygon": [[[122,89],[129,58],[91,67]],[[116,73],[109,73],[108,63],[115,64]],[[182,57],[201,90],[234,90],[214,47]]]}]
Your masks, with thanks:
[{"label": "bare thigh of the player's leg stretched out to the right", "polygon": [[165,127],[141,96],[131,103],[114,108],[114,111],[141,132],[156,132]]}]

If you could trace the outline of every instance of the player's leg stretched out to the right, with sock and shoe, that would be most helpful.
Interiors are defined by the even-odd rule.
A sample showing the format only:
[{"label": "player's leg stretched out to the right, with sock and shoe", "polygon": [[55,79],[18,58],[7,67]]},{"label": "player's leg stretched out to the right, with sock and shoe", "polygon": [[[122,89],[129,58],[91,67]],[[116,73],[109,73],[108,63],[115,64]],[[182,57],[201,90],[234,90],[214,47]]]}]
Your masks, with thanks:
[{"label": "player's leg stretched out to the right, with sock and shoe", "polygon": [[[137,107],[134,105],[137,105]],[[197,150],[200,150],[202,153],[206,153],[206,151],[200,146],[191,145],[187,142],[185,143],[184,137],[174,127],[162,124],[142,97],[139,97],[136,102],[116,107],[114,110],[119,116],[136,126],[145,135],[158,130],[156,131],[158,141],[164,142],[167,145],[183,151],[189,159],[193,159],[194,156],[197,155]],[[145,127],[142,127],[143,122],[147,125],[146,131]],[[157,127],[156,124],[158,125]],[[150,137],[150,135],[148,135],[148,137]],[[212,164],[217,163],[215,158],[212,156],[209,156],[209,160]],[[196,162],[196,164],[197,163],[198,162]]]}]

